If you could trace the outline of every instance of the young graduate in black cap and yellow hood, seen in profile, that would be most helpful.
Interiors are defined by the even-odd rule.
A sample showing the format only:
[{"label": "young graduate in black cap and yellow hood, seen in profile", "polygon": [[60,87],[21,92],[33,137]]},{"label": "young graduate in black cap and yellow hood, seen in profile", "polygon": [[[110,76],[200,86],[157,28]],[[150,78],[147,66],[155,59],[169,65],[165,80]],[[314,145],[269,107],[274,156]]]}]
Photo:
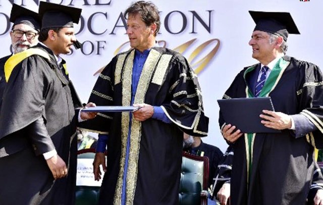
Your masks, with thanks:
[{"label": "young graduate in black cap and yellow hood, seen in profile", "polygon": [[[60,54],[81,9],[40,2],[41,43],[9,58],[0,114],[0,204],[74,204],[80,101]],[[88,106],[93,106],[89,104]]]}]

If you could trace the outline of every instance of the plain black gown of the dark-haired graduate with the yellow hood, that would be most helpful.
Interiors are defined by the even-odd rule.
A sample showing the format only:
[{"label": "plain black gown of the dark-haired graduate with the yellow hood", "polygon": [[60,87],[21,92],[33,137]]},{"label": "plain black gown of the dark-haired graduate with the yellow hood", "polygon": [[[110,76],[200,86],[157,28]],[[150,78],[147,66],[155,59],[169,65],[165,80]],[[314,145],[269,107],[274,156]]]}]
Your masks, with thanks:
[{"label": "plain black gown of the dark-haired graduate with the yellow hood", "polygon": [[[13,69],[3,96],[0,204],[73,204],[75,107],[80,102],[51,50],[40,44],[34,48],[41,49],[49,58],[32,55],[21,61]],[[35,126],[39,122],[42,124]],[[68,166],[68,177],[53,179],[42,156],[52,148]]]}]

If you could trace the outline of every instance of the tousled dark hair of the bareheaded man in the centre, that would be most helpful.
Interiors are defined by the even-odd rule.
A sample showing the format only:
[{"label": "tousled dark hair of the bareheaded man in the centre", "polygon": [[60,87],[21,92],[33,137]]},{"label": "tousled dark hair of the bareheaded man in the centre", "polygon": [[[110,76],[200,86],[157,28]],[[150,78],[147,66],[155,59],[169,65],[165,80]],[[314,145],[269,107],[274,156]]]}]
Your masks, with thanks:
[{"label": "tousled dark hair of the bareheaded man in the centre", "polygon": [[151,24],[156,24],[156,30],[154,36],[157,35],[160,28],[160,17],[158,8],[152,2],[138,1],[132,3],[130,7],[125,11],[125,16],[140,14],[141,20],[150,26]]}]

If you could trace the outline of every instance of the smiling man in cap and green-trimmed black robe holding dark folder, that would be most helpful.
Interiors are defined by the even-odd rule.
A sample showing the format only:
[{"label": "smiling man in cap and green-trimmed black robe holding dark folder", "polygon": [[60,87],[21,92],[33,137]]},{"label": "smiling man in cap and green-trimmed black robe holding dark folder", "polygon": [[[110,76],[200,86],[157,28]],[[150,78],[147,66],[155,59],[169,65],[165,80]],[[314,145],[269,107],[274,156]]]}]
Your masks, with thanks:
[{"label": "smiling man in cap and green-trimmed black robe holding dark folder", "polygon": [[260,63],[244,68],[224,98],[270,96],[275,112],[263,111],[261,123],[281,132],[243,135],[220,112],[222,133],[235,152],[231,204],[305,204],[314,146],[322,145],[323,76],[314,64],[285,56],[288,33],[299,33],[289,13],[250,14],[256,27],[249,45]]}]

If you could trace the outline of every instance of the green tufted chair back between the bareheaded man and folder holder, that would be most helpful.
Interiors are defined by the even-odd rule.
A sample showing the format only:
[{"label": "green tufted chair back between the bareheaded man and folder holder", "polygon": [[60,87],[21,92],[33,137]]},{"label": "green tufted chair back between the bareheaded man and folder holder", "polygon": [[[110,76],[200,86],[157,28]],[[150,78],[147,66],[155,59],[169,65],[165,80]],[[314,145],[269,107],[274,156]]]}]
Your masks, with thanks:
[{"label": "green tufted chair back between the bareheaded man and folder holder", "polygon": [[208,158],[183,152],[179,204],[207,204]]}]

